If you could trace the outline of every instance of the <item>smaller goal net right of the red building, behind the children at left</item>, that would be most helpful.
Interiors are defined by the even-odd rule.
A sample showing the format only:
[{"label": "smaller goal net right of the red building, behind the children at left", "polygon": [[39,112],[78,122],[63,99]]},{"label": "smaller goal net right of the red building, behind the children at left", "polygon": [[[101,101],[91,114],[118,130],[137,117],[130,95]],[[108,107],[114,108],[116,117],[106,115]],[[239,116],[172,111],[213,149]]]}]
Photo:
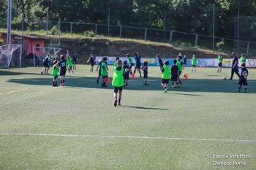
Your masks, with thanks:
[{"label": "smaller goal net right of the red building, behind the children at left", "polygon": [[61,48],[57,47],[33,47],[34,66],[41,66],[47,53],[50,53],[52,59],[56,59],[59,57],[59,52],[61,52]]}]

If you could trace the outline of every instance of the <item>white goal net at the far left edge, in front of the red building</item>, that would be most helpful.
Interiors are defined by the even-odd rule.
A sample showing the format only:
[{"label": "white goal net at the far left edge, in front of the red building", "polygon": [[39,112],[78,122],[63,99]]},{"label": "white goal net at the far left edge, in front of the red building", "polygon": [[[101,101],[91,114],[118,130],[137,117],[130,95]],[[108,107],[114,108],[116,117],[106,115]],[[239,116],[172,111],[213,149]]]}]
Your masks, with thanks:
[{"label": "white goal net at the far left edge, in front of the red building", "polygon": [[18,66],[21,63],[21,45],[2,45],[0,47],[0,68]]}]

